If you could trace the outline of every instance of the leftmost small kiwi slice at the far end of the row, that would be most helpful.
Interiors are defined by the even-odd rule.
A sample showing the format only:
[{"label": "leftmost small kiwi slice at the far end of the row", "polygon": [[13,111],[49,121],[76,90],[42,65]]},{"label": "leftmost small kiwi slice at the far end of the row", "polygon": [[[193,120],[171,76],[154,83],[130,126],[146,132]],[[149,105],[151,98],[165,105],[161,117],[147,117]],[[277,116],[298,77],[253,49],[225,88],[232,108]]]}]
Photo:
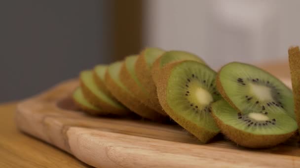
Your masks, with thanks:
[{"label": "leftmost small kiwi slice at the far end of the row", "polygon": [[103,112],[98,107],[90,104],[85,97],[83,96],[81,87],[77,87],[72,94],[72,99],[76,106],[78,106],[84,112],[89,114],[107,114],[107,112]]}]

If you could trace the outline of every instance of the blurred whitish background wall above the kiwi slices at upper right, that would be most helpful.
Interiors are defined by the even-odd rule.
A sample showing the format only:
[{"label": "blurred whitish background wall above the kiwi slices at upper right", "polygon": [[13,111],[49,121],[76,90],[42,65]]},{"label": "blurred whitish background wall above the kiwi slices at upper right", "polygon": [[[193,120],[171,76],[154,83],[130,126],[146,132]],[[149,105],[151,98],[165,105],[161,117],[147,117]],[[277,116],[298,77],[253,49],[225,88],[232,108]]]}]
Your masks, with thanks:
[{"label": "blurred whitish background wall above the kiwi slices at upper right", "polygon": [[146,0],[144,45],[186,50],[213,68],[286,61],[300,44],[300,0]]}]

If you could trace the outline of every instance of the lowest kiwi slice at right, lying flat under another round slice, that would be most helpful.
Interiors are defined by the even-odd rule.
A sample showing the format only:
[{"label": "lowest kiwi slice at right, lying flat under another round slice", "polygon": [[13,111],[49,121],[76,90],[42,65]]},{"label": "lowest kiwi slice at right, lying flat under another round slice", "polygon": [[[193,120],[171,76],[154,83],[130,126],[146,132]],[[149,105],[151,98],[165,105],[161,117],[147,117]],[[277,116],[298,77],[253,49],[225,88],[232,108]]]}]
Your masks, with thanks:
[{"label": "lowest kiwi slice at right, lying flat under another round slice", "polygon": [[237,112],[225,100],[212,104],[222,133],[238,145],[271,147],[288,140],[297,130],[296,121],[284,112]]}]

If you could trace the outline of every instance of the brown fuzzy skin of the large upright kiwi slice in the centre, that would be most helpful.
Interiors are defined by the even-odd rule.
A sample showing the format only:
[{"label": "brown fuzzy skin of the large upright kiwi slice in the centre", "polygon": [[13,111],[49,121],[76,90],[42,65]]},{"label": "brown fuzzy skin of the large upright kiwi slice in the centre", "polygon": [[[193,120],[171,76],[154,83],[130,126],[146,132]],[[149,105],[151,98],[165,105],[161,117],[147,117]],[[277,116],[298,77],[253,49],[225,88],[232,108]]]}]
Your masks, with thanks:
[{"label": "brown fuzzy skin of the large upright kiwi slice in the centre", "polygon": [[197,137],[201,142],[207,143],[209,142],[212,138],[214,138],[219,132],[212,132],[205,130],[205,128],[199,127],[194,123],[191,123],[184,117],[178,116],[171,107],[168,105],[167,102],[167,86],[168,86],[168,79],[171,75],[172,69],[179,63],[184,62],[179,61],[179,62],[174,62],[166,65],[164,67],[164,71],[161,72],[159,75],[159,78],[157,79],[157,94],[158,94],[158,99],[165,110],[167,114],[174,120],[176,121],[179,125],[181,125],[183,128],[185,128],[188,132],[193,134],[195,137]]}]

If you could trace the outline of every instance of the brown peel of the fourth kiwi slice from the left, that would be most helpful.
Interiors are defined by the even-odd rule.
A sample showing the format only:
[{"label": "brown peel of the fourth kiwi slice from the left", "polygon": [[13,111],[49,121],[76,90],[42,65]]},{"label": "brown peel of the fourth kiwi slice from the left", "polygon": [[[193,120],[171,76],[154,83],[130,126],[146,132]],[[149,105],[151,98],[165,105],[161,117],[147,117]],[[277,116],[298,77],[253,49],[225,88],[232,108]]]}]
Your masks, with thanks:
[{"label": "brown peel of the fourth kiwi slice from the left", "polygon": [[105,84],[111,91],[112,95],[131,111],[142,116],[143,118],[148,118],[153,121],[165,121],[165,117],[161,117],[161,114],[142,104],[138,99],[133,97],[132,93],[130,93],[128,90],[124,90],[123,88],[121,88],[114,81],[114,79],[112,79],[109,70],[105,74]]}]

